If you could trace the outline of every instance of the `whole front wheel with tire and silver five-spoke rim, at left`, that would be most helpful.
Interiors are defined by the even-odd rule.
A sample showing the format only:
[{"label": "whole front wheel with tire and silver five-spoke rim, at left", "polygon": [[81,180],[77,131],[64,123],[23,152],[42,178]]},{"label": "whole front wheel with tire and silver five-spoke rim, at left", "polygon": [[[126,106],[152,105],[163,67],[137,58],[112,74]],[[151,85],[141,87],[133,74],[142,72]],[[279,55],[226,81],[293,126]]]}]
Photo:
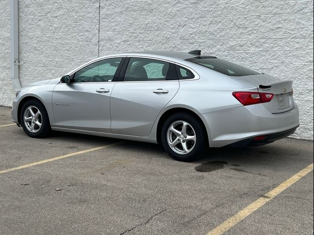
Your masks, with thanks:
[{"label": "whole front wheel with tire and silver five-spoke rim, at left", "polygon": [[46,137],[51,130],[45,106],[38,100],[27,100],[20,113],[24,132],[33,138]]}]

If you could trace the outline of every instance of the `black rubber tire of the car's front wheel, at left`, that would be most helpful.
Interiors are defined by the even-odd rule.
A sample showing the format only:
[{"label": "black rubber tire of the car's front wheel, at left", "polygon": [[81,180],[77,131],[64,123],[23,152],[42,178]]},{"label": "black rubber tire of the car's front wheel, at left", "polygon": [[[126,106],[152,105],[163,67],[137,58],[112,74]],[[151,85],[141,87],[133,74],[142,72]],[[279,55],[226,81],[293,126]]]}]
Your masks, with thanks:
[{"label": "black rubber tire of the car's front wheel, at left", "polygon": [[[40,111],[41,117],[39,117],[38,120],[41,121],[41,126],[39,127],[38,125],[35,125],[37,128],[36,132],[31,132],[29,130],[29,126],[26,127],[26,124],[24,122],[24,114],[26,112],[26,109],[28,109],[28,107],[30,107],[30,106],[33,106]],[[51,133],[51,127],[50,127],[50,122],[49,122],[47,110],[46,110],[45,106],[39,100],[31,99],[31,100],[27,100],[23,104],[23,106],[21,108],[21,112],[20,112],[20,120],[21,120],[21,125],[23,127],[24,132],[29,137],[44,138],[44,137],[47,137]],[[32,122],[32,121],[30,121],[30,122]]]}]

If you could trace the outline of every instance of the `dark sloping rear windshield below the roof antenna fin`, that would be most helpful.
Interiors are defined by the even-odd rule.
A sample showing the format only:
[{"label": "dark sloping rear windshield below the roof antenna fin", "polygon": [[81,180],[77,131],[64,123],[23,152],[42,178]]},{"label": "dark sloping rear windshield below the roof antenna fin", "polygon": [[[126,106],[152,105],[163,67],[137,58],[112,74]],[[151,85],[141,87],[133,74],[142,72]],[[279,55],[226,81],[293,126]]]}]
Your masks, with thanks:
[{"label": "dark sloping rear windshield below the roof antenna fin", "polygon": [[218,58],[190,58],[186,59],[189,62],[193,62],[198,65],[202,65],[211,70],[221,72],[229,76],[247,76],[260,74],[258,71],[254,71],[243,66],[228,62],[226,60]]}]

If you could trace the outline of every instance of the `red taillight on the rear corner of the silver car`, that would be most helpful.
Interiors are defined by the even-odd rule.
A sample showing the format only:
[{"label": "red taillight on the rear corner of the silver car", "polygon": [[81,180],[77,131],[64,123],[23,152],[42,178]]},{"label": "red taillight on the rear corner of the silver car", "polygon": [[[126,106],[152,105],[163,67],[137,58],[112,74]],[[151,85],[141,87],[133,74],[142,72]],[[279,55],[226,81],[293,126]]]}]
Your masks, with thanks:
[{"label": "red taillight on the rear corner of the silver car", "polygon": [[271,101],[272,98],[274,97],[274,94],[260,92],[233,92],[232,94],[244,106],[251,104],[266,103]]}]

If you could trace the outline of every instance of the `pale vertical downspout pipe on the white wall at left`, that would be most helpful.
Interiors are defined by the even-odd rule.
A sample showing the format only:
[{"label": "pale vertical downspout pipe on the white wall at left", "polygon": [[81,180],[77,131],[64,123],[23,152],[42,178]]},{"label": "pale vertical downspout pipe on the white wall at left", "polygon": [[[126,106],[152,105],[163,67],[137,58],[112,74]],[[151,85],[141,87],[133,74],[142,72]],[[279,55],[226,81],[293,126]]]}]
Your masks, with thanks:
[{"label": "pale vertical downspout pipe on the white wall at left", "polygon": [[19,79],[18,0],[10,0],[11,9],[11,82],[15,91],[21,90]]}]

